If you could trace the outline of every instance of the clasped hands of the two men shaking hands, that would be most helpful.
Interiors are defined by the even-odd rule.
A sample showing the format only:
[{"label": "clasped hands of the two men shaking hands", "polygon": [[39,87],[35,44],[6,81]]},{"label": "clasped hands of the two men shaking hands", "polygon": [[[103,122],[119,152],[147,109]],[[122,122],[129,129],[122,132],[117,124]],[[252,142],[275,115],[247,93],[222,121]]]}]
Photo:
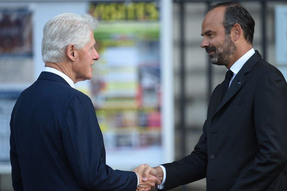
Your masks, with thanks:
[{"label": "clasped hands of the two men shaking hands", "polygon": [[156,185],[160,185],[163,180],[163,170],[161,167],[150,167],[148,164],[139,165],[134,172],[139,176],[139,186],[136,191],[154,190]]}]

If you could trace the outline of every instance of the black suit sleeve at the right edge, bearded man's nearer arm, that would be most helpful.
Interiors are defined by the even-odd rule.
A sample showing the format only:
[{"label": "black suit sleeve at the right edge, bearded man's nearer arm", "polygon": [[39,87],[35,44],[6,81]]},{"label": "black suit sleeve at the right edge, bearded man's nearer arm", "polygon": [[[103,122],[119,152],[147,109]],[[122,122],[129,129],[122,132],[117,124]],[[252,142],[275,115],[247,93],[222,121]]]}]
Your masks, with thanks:
[{"label": "black suit sleeve at the right edge, bearded man's nearer arm", "polygon": [[231,188],[266,190],[287,163],[287,86],[283,76],[266,73],[254,95],[254,125],[259,153]]}]

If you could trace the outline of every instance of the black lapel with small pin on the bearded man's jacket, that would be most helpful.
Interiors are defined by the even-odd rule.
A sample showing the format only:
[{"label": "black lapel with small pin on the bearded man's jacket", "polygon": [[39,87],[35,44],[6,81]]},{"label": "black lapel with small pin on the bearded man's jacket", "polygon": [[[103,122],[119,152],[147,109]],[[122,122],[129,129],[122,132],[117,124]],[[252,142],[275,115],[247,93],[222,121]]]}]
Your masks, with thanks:
[{"label": "black lapel with small pin on the bearded man's jacket", "polygon": [[[260,58],[261,55],[256,50],[255,53],[246,61],[246,63],[242,66],[240,71],[236,74],[235,78],[231,82],[230,87],[228,88],[222,102],[219,104],[215,113],[212,115],[212,118],[240,90],[240,88],[246,82],[245,74],[251,71],[252,67],[256,64],[256,62],[258,62]],[[218,96],[218,98],[219,97],[220,96]]]}]

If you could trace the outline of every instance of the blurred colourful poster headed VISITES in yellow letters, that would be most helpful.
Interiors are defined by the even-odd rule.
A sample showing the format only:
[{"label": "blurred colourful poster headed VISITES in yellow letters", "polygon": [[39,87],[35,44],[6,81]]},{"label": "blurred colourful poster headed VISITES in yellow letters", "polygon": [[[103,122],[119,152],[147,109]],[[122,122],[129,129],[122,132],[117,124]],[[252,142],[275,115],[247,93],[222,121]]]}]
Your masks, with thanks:
[{"label": "blurred colourful poster headed VISITES in yellow letters", "polygon": [[141,154],[163,161],[158,6],[156,1],[90,4],[89,13],[99,19],[94,37],[100,59],[89,92],[107,164],[140,164]]}]

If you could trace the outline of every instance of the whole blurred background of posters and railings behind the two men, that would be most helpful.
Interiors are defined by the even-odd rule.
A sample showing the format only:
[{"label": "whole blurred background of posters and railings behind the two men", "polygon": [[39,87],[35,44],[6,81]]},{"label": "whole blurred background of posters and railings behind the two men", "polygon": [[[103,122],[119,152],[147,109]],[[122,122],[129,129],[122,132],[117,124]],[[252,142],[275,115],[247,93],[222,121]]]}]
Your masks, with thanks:
[{"label": "whole blurred background of posters and railings behind the two men", "polygon": [[[223,1],[1,0],[0,190],[13,190],[9,121],[21,91],[44,69],[42,29],[62,13],[89,13],[94,31],[93,78],[76,84],[93,101],[107,164],[132,170],[191,153],[206,119],[211,92],[226,68],[200,47],[208,7]],[[287,1],[236,1],[255,20],[253,47],[287,76]],[[44,164],[43,164],[44,165]],[[173,190],[206,190],[205,179]]]}]

